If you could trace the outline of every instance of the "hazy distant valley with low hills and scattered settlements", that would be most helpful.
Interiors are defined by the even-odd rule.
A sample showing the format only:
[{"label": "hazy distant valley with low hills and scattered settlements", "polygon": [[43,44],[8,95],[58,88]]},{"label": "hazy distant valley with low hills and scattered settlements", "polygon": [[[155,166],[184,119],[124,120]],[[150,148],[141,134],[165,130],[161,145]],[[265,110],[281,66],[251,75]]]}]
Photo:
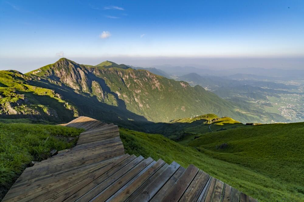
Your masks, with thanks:
[{"label": "hazy distant valley with low hills and scattered settlements", "polygon": [[[191,86],[200,85],[239,106],[246,105],[257,111],[279,114],[286,119],[283,122],[304,121],[304,71],[302,70],[244,68],[232,69],[229,72],[176,67],[177,71],[174,73],[174,67],[158,67],[162,69],[150,69],[155,73],[161,72],[167,78],[186,81]],[[189,73],[190,71],[193,72]],[[242,73],[237,73],[238,71]]]}]

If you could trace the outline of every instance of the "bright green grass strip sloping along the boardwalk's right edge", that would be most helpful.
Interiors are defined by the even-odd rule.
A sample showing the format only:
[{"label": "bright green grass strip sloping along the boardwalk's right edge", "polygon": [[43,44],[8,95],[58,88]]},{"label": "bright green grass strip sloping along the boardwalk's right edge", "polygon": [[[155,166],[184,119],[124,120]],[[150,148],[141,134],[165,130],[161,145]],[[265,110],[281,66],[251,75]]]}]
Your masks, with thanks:
[{"label": "bright green grass strip sloping along the boardwalk's right edge", "polygon": [[[212,134],[214,133],[208,135]],[[301,186],[292,180],[286,182],[268,176],[267,174],[259,173],[248,166],[246,167],[210,157],[207,154],[199,152],[194,147],[183,146],[162,135],[146,134],[120,128],[120,137],[126,153],[137,156],[142,155],[143,157],[150,156],[154,160],[161,158],[169,164],[172,161],[176,161],[183,167],[194,164],[213,177],[230,184],[259,201],[304,200],[303,193],[299,191]],[[269,166],[271,167],[271,165]],[[299,168],[299,171],[301,170],[302,169]],[[292,172],[288,172],[288,175],[293,175],[292,179],[296,177]],[[302,175],[297,176],[299,180],[301,176]]]}]

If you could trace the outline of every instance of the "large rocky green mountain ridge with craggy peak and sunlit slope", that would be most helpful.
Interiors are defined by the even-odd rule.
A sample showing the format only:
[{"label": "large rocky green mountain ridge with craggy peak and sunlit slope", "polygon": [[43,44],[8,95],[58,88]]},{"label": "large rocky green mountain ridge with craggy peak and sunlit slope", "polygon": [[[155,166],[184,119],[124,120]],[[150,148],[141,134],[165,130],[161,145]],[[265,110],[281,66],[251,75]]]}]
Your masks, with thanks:
[{"label": "large rocky green mountain ridge with craggy peak and sunlit slope", "polygon": [[[99,103],[115,106],[120,117],[125,120],[135,120],[134,116],[126,114],[129,111],[142,116],[148,121],[166,122],[180,117],[190,117],[196,114],[215,113],[219,116],[230,116],[234,119],[248,122],[259,121],[262,116],[242,113],[233,103],[219,98],[200,86],[191,87],[183,81],[174,81],[154,75],[146,70],[124,68],[105,61],[100,65],[80,65],[66,58],[61,58],[54,64],[29,72],[28,76],[43,80],[49,88],[68,88],[63,96],[71,100],[81,111],[86,113],[79,99],[72,99],[73,93]],[[128,66],[126,66],[128,67]],[[38,77],[37,77],[38,76]],[[45,86],[45,85],[44,85]],[[94,101],[94,107],[96,106]],[[90,110],[95,118],[101,119],[98,109]],[[126,116],[127,115],[127,116]],[[139,120],[141,118],[137,118]],[[144,119],[142,119],[144,120]]]}]

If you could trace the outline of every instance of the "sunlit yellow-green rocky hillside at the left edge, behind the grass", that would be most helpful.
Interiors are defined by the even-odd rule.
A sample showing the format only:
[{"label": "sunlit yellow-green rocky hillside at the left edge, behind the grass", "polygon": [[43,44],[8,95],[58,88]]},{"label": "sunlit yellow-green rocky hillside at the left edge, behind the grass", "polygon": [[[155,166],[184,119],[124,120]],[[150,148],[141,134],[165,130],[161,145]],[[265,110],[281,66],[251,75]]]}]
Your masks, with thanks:
[{"label": "sunlit yellow-green rocky hillside at the left edge, behind the grass", "polygon": [[[0,71],[0,114],[6,118],[43,118],[69,121],[78,110],[54,90],[29,85],[31,77]],[[58,116],[59,115],[59,116]]]}]

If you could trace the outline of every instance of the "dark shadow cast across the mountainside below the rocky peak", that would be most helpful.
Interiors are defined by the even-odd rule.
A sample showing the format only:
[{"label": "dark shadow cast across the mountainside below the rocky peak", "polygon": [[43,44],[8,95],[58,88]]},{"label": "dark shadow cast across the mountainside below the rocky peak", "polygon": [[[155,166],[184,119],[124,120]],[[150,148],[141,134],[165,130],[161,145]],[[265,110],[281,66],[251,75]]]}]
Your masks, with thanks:
[{"label": "dark shadow cast across the mountainside below the rocky peak", "polygon": [[[148,121],[144,116],[140,116],[126,109],[125,102],[119,99],[116,93],[110,91],[110,88],[106,86],[104,80],[98,77],[94,78],[94,80],[97,80],[107,93],[112,94],[116,98],[118,106],[105,104],[98,101],[96,96],[91,96],[89,93],[78,94],[74,92],[74,89],[64,84],[59,86],[44,79],[41,79],[40,81],[29,81],[29,84],[52,89],[56,93],[59,93],[63,96],[65,101],[71,102],[78,108],[79,116],[88,116],[106,123],[114,123],[121,127],[139,131],[145,131],[143,128],[154,124],[153,122]],[[72,119],[74,119],[74,117],[70,117],[69,120],[66,121],[68,122]]]}]

